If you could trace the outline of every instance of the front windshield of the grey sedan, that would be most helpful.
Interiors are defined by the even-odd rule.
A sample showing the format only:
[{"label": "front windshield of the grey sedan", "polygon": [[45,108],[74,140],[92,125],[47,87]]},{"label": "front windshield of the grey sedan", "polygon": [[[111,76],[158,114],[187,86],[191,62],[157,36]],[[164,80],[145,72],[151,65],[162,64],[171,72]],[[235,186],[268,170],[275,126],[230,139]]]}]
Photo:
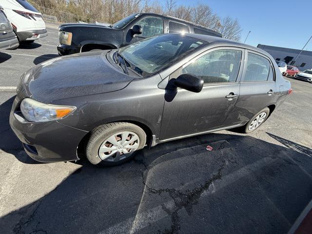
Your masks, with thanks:
[{"label": "front windshield of the grey sedan", "polygon": [[163,34],[120,49],[119,53],[140,75],[158,72],[207,42],[179,34]]}]

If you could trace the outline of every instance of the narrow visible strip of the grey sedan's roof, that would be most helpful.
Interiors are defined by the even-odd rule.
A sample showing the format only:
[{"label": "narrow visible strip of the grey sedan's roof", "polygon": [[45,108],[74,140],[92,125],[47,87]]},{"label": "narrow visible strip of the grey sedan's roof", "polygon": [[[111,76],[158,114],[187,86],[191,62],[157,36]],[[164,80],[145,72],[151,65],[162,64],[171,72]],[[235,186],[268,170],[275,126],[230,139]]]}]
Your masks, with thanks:
[{"label": "narrow visible strip of the grey sedan's roof", "polygon": [[[222,46],[235,46],[235,47],[240,47],[240,48],[244,48],[244,49],[249,49],[249,50],[253,50],[255,52],[261,53],[263,55],[268,56],[269,58],[272,58],[272,56],[264,51],[261,50],[257,47],[251,46],[251,45],[247,45],[244,43],[240,43],[234,40],[229,40],[229,39],[224,39],[224,38],[218,38],[218,37],[214,37],[214,36],[208,36],[208,35],[203,35],[203,34],[193,34],[193,33],[185,33],[185,36],[188,37],[192,37],[192,38],[196,38],[196,39],[200,39],[203,41],[207,41],[209,43],[214,43],[214,44],[222,44]],[[272,58],[272,60],[274,60]]]}]

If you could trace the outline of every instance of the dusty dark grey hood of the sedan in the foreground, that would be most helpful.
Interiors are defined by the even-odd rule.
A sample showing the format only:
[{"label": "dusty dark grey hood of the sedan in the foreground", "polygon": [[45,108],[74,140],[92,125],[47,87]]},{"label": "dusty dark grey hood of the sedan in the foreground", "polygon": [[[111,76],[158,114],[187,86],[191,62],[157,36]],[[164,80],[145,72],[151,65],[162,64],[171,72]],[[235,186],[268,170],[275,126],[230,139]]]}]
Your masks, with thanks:
[{"label": "dusty dark grey hood of the sedan in the foreground", "polygon": [[50,103],[123,89],[134,77],[114,67],[106,54],[107,51],[86,52],[40,63],[21,77],[18,97]]}]

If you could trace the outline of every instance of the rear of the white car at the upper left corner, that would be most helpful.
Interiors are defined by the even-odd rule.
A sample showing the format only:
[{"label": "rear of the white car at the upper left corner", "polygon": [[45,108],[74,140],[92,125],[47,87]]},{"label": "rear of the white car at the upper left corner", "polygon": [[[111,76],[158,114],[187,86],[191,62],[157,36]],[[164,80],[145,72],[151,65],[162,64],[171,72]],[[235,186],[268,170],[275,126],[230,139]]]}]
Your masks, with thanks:
[{"label": "rear of the white car at the upper left corner", "polygon": [[19,41],[28,43],[48,36],[41,13],[26,0],[1,0]]}]

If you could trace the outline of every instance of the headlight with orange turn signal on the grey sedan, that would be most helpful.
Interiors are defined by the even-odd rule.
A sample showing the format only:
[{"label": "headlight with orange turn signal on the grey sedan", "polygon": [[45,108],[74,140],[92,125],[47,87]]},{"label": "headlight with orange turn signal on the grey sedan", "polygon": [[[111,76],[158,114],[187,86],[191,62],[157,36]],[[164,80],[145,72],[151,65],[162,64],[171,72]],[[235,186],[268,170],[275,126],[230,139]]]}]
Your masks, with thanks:
[{"label": "headlight with orange turn signal on the grey sedan", "polygon": [[31,122],[47,122],[63,118],[76,110],[75,106],[44,104],[31,98],[20,103],[20,111]]}]

